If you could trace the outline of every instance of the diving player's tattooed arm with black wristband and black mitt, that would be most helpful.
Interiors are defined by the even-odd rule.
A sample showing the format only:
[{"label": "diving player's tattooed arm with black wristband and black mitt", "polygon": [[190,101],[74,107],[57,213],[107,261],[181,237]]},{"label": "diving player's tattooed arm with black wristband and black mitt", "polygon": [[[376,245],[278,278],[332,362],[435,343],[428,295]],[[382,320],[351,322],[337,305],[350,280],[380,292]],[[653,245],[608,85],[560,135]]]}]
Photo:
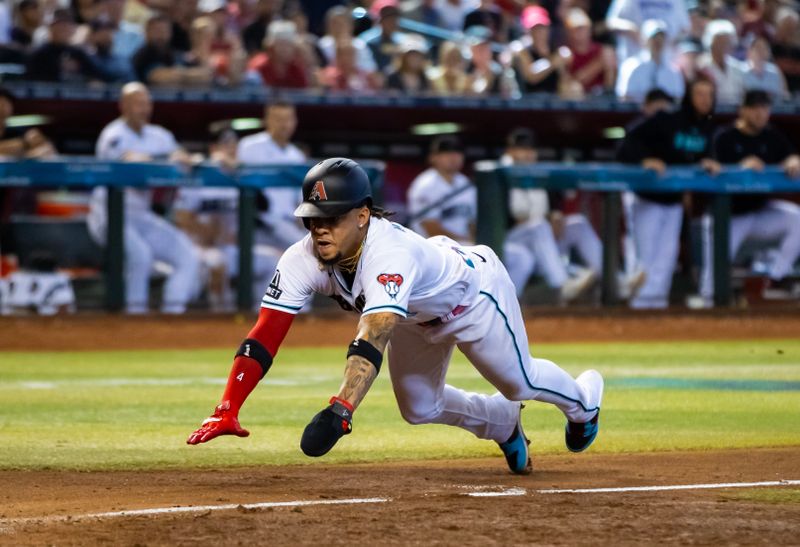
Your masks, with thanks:
[{"label": "diving player's tattooed arm with black wristband and black mitt", "polygon": [[361,317],[358,335],[347,352],[347,365],[339,393],[318,412],[303,431],[300,448],[307,456],[322,456],[353,429],[353,412],[378,376],[398,316],[376,313]]}]

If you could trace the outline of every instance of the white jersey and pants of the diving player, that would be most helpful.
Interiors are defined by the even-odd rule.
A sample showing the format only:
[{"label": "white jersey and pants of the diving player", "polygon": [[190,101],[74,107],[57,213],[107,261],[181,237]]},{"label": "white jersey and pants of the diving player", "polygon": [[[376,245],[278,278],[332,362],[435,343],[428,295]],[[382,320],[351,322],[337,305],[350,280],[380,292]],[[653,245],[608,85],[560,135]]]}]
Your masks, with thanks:
[{"label": "white jersey and pants of the diving player", "polygon": [[[551,361],[530,357],[514,285],[488,247],[426,240],[372,218],[348,287],[336,268],[320,265],[309,234],[281,257],[262,307],[297,313],[314,292],[362,315],[401,317],[388,346],[389,373],[400,413],[411,423],[453,425],[503,442],[519,416],[514,401],[551,402],[576,422],[598,411],[602,386],[581,386]],[[502,395],[445,384],[456,346]]]}]

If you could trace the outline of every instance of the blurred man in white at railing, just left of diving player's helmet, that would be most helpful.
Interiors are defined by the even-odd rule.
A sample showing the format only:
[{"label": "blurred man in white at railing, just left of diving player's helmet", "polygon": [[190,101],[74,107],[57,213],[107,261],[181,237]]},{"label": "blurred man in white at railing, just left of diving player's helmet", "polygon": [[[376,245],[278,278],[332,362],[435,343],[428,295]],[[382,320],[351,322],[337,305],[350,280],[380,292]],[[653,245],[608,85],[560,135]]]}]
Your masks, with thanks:
[{"label": "blurred man in white at railing, just left of diving player's helmet", "polygon": [[[265,131],[244,137],[236,149],[236,159],[244,165],[306,163],[306,155],[290,141],[297,129],[297,113],[288,103],[272,103],[264,108]],[[259,215],[263,228],[256,231],[259,243],[286,249],[305,232],[292,216],[300,203],[297,188],[265,188],[267,211]]]}]

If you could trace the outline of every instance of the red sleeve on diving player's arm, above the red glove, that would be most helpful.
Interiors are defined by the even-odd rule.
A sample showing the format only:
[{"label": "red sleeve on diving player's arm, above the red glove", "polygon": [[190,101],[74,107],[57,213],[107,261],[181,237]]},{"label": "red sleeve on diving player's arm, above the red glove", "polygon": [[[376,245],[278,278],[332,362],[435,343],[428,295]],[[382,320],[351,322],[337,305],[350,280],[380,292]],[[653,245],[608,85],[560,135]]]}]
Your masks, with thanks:
[{"label": "red sleeve on diving player's arm, above the red glove", "polygon": [[[258,321],[247,337],[258,340],[274,358],[293,320],[294,315],[291,313],[261,308]],[[238,355],[233,360],[233,367],[228,375],[228,384],[225,386],[225,393],[222,394],[222,404],[227,402],[234,414],[238,414],[245,399],[258,385],[263,375],[264,371],[258,361]]]}]

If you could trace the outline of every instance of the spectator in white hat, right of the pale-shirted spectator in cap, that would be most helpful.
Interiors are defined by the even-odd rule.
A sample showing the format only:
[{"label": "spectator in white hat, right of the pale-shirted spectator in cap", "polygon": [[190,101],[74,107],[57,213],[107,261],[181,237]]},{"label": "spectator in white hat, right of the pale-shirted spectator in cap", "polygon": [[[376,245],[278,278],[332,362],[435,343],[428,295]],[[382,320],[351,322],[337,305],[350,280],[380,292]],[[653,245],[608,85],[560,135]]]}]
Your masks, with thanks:
[{"label": "spectator in white hat, right of the pale-shirted spectator in cap", "polygon": [[720,104],[738,104],[744,95],[744,67],[731,55],[736,41],[736,27],[727,19],[711,21],[703,35],[708,53],[700,56],[697,66],[716,85]]}]

